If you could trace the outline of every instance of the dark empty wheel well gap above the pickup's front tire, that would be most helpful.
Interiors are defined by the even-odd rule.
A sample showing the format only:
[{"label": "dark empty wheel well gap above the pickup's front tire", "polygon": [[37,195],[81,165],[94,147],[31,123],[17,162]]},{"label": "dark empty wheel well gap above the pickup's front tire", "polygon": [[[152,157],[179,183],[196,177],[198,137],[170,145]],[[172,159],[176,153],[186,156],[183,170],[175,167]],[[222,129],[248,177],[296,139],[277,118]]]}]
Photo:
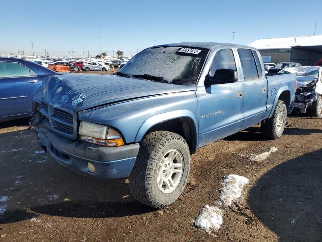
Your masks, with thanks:
[{"label": "dark empty wheel well gap above the pickup's front tire", "polygon": [[196,129],[194,128],[194,123],[190,118],[176,118],[172,120],[167,120],[165,122],[159,123],[151,127],[144,136],[154,131],[169,131],[181,135],[187,142],[190,153],[194,154],[196,152]]}]

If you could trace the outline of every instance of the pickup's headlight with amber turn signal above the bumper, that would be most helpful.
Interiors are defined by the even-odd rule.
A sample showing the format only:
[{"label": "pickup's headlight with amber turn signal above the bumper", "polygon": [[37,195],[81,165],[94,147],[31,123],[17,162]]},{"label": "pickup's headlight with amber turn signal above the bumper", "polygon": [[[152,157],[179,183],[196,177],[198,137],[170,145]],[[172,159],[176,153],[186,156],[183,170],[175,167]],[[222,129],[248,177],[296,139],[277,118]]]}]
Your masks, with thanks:
[{"label": "pickup's headlight with amber turn signal above the bumper", "polygon": [[81,121],[78,133],[81,135],[81,140],[86,142],[106,146],[124,145],[120,133],[105,125]]}]

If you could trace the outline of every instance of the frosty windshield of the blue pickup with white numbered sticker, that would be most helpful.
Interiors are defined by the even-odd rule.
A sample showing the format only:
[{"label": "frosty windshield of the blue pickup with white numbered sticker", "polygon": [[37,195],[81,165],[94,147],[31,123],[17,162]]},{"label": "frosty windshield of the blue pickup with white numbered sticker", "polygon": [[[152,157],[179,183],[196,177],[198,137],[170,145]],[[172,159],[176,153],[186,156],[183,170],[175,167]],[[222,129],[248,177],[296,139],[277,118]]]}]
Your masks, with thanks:
[{"label": "frosty windshield of the blue pickup with white numbered sticker", "polygon": [[208,52],[209,49],[195,47],[152,47],[131,58],[120,72],[129,77],[163,78],[173,84],[196,84]]}]

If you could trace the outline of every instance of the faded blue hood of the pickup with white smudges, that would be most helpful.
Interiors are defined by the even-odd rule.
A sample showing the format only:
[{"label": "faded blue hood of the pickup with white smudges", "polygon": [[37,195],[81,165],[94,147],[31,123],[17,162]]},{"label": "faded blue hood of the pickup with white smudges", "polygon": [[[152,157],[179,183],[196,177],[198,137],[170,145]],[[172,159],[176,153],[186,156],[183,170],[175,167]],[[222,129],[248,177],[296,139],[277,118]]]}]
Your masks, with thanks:
[{"label": "faded blue hood of the pickup with white smudges", "polygon": [[192,90],[196,87],[116,75],[60,74],[44,78],[42,100],[78,112],[127,99]]}]

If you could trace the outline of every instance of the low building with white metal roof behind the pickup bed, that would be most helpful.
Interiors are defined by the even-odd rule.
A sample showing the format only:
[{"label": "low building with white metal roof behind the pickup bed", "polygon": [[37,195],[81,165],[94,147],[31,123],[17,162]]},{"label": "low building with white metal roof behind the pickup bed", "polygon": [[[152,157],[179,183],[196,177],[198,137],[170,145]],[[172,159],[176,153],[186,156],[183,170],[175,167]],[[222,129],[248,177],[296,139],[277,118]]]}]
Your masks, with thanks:
[{"label": "low building with white metal roof behind the pickup bed", "polygon": [[267,62],[299,62],[313,65],[322,58],[322,35],[259,39],[248,46],[257,48]]}]

